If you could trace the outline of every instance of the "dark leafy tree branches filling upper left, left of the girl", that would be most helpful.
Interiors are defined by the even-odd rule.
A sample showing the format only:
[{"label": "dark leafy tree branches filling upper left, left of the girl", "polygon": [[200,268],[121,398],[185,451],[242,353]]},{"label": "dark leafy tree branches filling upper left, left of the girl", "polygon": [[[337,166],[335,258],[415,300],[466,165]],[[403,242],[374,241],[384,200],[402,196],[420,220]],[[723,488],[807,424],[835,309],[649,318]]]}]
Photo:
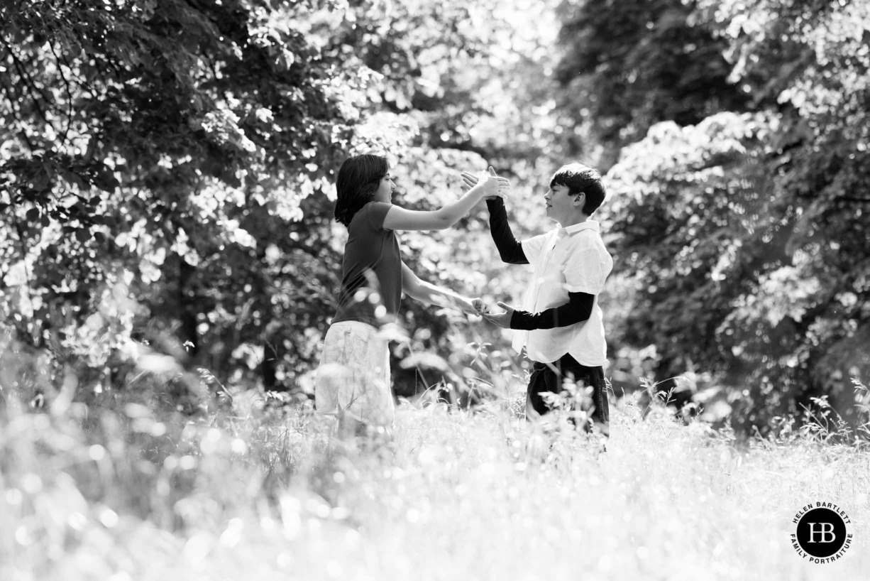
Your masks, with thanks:
[{"label": "dark leafy tree branches filling upper left, left of the girl", "polygon": [[208,345],[210,363],[233,365],[234,348],[284,324],[317,326],[318,295],[288,309],[293,295],[273,304],[270,282],[304,287],[295,267],[328,248],[312,235],[324,211],[298,220],[349,135],[338,83],[361,80],[291,25],[297,9],[4,9],[3,213],[15,228],[3,281],[18,292],[3,306],[19,334],[37,346],[50,329],[74,336],[102,285],[120,280],[157,315],[152,331],[177,331],[193,353]]}]

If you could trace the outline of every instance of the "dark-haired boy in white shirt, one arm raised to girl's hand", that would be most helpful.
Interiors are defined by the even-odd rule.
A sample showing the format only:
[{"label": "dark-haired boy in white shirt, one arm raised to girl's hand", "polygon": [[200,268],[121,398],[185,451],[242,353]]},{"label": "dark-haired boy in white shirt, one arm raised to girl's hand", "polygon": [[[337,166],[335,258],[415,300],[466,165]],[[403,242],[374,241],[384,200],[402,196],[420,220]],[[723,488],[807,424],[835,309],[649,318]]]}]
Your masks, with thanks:
[{"label": "dark-haired boy in white shirt, one arm raised to girl's hand", "polygon": [[[464,172],[467,186],[477,177]],[[492,240],[501,260],[531,264],[534,276],[522,309],[499,302],[501,313],[481,312],[501,328],[517,329],[512,347],[532,360],[525,398],[530,420],[550,407],[542,394],[559,394],[566,379],[592,388],[592,422],[609,432],[609,407],[603,365],[607,344],[598,297],[613,259],[601,240],[599,223],[590,216],[605,199],[601,174],[579,163],[559,168],[544,196],[546,215],[559,224],[548,233],[517,241],[507,221],[505,201],[487,197]],[[585,429],[590,425],[586,424]]]}]

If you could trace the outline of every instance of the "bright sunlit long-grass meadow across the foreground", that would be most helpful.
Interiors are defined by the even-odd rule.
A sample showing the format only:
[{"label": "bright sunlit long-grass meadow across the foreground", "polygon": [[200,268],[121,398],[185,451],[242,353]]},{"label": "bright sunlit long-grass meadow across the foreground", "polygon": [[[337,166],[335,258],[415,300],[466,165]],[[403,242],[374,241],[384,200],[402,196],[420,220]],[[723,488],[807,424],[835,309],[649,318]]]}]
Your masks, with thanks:
[{"label": "bright sunlit long-grass meadow across the foreground", "polygon": [[[612,409],[606,452],[498,402],[398,408],[391,443],[343,443],[251,393],[198,415],[62,390],[4,394],[0,579],[866,579],[870,454],[831,429],[738,443],[654,404]],[[843,436],[840,434],[839,436]],[[548,439],[549,438],[549,439]],[[839,442],[839,443],[835,443]],[[807,503],[853,541],[811,564]]]}]

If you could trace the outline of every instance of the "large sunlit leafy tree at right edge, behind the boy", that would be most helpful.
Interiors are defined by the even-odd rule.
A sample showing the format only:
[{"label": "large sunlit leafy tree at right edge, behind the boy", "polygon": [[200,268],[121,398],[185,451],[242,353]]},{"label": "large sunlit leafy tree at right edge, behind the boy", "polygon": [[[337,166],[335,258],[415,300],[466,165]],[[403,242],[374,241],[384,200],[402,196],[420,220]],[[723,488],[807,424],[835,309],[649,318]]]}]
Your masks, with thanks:
[{"label": "large sunlit leafy tree at right edge, behind the boy", "polygon": [[699,6],[763,112],[654,125],[612,168],[619,269],[638,281],[626,341],[654,344],[665,376],[718,371],[750,425],[820,395],[846,409],[847,377],[870,371],[870,12]]}]

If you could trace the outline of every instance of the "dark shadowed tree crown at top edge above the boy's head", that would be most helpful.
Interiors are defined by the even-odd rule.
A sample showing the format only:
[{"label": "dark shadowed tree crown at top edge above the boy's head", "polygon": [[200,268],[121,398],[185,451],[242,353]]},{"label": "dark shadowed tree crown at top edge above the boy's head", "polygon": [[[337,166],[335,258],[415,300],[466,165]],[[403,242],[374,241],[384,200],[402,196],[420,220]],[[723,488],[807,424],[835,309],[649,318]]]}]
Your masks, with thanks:
[{"label": "dark shadowed tree crown at top edge above the boy's head", "polygon": [[[559,101],[576,125],[590,125],[615,161],[622,145],[660,121],[693,125],[717,111],[743,111],[746,92],[729,79],[726,41],[699,21],[696,2],[566,0],[560,6],[564,47],[555,77]],[[588,156],[589,144],[575,142]]]}]

